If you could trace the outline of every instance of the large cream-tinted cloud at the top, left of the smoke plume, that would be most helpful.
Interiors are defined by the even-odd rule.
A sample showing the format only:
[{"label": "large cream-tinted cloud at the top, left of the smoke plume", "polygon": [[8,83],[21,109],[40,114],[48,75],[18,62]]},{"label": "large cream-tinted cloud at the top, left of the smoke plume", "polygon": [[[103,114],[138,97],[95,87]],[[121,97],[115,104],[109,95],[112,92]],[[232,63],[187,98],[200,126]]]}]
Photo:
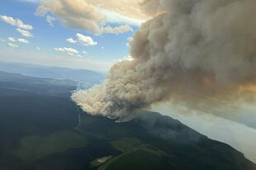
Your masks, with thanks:
[{"label": "large cream-tinted cloud at the top, left of the smoke plume", "polygon": [[57,18],[64,26],[84,29],[94,34],[121,34],[132,31],[128,25],[106,26],[106,17],[97,12],[97,7],[92,3],[83,0],[55,0],[41,2],[36,14],[44,17],[50,13]]}]

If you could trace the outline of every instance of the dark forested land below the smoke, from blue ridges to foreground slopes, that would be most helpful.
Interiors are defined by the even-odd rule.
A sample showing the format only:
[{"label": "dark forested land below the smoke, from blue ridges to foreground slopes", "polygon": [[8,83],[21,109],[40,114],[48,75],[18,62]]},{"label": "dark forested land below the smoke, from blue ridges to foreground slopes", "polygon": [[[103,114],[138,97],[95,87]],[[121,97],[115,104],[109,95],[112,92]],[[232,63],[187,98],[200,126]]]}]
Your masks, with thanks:
[{"label": "dark forested land below the smoke, from blue ridges to foreground slopes", "polygon": [[0,72],[1,170],[255,170],[243,153],[159,113],[84,113],[72,81]]}]

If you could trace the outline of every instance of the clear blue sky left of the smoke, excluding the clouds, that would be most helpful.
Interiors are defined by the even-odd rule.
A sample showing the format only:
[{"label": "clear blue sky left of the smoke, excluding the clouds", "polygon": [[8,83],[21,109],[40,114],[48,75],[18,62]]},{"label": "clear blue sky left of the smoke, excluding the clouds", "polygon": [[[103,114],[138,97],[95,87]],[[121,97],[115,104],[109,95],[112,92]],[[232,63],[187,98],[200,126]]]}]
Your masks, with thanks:
[{"label": "clear blue sky left of the smoke, excluding the clouds", "polygon": [[[54,26],[50,26],[46,17],[36,14],[36,9],[39,6],[40,2],[33,0],[32,2],[25,0],[2,1],[0,16],[19,19],[25,25],[32,26],[33,29],[27,31],[31,32],[33,37],[21,35],[17,31],[17,26],[0,20],[0,52],[2,54],[0,60],[107,71],[111,64],[129,55],[129,47],[126,45],[127,38],[135,33],[139,25],[131,24],[129,26],[133,31],[126,31],[118,35],[107,33],[96,35],[86,29],[64,26],[54,15],[50,15],[55,17]],[[121,23],[107,22],[106,26],[121,26]],[[67,42],[68,38],[75,40],[77,33],[91,37],[94,42],[97,42],[97,45],[85,46]],[[9,37],[13,37],[16,42],[8,40]],[[17,39],[28,40],[29,43],[17,42]],[[10,46],[10,43],[17,45],[18,48]],[[66,52],[56,51],[55,48],[72,48],[77,50],[78,54],[71,56]]]}]

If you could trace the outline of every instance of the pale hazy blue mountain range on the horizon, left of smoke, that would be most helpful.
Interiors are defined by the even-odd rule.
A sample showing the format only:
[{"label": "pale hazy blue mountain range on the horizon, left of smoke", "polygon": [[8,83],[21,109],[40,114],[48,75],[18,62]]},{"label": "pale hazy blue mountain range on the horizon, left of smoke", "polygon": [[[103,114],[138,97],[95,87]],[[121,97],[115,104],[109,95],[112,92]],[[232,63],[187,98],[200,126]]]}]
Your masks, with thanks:
[{"label": "pale hazy blue mountain range on the horizon, left of smoke", "polygon": [[21,73],[36,78],[69,79],[79,83],[99,83],[105,78],[102,73],[87,69],[46,67],[35,64],[0,62],[0,71],[7,73]]}]

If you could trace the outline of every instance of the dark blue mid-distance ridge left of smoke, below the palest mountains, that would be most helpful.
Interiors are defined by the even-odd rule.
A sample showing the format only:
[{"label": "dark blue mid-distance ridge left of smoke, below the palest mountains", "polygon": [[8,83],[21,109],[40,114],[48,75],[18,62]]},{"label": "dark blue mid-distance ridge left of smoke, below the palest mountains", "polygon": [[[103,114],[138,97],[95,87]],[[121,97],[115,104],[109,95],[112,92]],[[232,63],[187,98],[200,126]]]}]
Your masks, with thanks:
[{"label": "dark blue mid-distance ridge left of smoke, below the palest mountains", "polygon": [[72,80],[31,78],[20,73],[0,71],[0,97],[17,94],[70,97],[70,92],[77,87],[78,83]]}]

